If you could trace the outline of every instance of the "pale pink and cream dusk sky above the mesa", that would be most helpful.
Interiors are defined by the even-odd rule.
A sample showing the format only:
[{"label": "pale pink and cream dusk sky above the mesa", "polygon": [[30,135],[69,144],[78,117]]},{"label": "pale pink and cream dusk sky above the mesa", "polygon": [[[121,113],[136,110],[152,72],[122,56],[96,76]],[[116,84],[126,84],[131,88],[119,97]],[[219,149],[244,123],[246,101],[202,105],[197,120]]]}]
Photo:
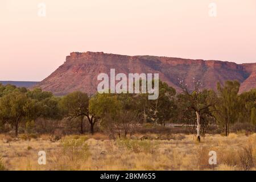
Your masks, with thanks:
[{"label": "pale pink and cream dusk sky above the mesa", "polygon": [[0,1],[0,80],[86,51],[256,63],[256,0]]}]

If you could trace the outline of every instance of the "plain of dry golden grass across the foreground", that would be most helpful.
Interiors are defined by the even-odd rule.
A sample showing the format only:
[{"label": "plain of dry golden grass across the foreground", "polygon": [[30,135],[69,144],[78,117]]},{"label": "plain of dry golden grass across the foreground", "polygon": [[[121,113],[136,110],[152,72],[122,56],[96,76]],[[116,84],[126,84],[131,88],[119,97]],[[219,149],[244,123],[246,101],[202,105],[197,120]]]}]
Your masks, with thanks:
[{"label": "plain of dry golden grass across the foreground", "polygon": [[[29,140],[0,135],[0,169],[9,170],[256,170],[256,134],[171,135],[140,140],[109,140],[104,134],[49,136]],[[46,151],[46,165],[38,152]],[[209,165],[209,151],[217,165]]]}]

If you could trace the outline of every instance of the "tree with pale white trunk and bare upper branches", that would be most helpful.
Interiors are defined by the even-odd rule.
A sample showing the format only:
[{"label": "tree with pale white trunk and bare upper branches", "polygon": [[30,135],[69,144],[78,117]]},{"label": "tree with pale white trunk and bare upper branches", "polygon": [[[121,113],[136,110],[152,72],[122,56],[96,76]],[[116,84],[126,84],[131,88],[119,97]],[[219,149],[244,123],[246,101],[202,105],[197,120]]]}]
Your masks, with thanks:
[{"label": "tree with pale white trunk and bare upper branches", "polygon": [[[180,87],[183,89],[183,94],[178,96],[178,102],[180,105],[181,113],[195,113],[196,125],[197,125],[197,140],[200,142],[201,125],[205,121],[204,117],[214,117],[212,115],[211,108],[216,104],[216,94],[213,90],[201,90],[201,82],[193,79],[194,89],[189,92],[187,84],[182,80],[180,81]],[[183,115],[183,114],[182,114]],[[204,123],[205,124],[205,123]]]}]

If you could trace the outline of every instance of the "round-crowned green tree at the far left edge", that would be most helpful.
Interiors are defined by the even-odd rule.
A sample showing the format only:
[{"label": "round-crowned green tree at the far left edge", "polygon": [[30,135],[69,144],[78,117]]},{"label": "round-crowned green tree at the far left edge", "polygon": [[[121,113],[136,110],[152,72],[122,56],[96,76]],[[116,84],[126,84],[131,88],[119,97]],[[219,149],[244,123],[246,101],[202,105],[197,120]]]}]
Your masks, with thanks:
[{"label": "round-crowned green tree at the far left edge", "polygon": [[18,137],[18,126],[24,119],[29,119],[31,100],[21,92],[11,92],[0,99],[1,118],[9,121],[15,127],[15,136]]}]

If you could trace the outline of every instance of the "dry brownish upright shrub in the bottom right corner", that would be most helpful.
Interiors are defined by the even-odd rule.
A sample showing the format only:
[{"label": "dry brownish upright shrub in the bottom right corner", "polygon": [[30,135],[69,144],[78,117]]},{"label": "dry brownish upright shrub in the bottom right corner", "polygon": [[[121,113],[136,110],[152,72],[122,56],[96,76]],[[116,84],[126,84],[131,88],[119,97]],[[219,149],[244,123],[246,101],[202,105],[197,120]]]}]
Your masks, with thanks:
[{"label": "dry brownish upright shrub in the bottom right corner", "polygon": [[253,147],[251,145],[243,147],[239,153],[241,169],[243,171],[250,171],[254,166],[253,164]]}]

